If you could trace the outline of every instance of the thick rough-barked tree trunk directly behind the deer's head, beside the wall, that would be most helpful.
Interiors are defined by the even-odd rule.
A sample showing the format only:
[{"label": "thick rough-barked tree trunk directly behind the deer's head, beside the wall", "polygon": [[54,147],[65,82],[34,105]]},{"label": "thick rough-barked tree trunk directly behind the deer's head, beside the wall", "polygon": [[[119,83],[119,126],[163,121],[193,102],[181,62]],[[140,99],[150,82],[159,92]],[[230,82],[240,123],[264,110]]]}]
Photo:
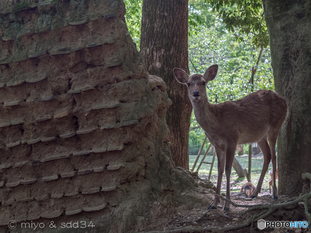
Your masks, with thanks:
[{"label": "thick rough-barked tree trunk directly behind the deer's head, beside the wall", "polygon": [[175,80],[174,68],[189,73],[188,0],[144,0],[140,52],[151,75],[161,77],[173,104],[166,112],[172,158],[189,169],[188,138],[192,105],[187,88]]}]

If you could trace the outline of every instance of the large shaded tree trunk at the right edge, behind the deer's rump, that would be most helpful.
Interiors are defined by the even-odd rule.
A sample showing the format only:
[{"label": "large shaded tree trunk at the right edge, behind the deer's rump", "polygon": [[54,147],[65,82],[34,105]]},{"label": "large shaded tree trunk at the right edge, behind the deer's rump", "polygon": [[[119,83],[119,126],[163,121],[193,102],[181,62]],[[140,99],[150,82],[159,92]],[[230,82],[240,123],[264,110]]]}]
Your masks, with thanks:
[{"label": "large shaded tree trunk at the right edge, behind the deer's rump", "polygon": [[279,193],[301,192],[311,171],[311,2],[262,0],[276,92],[285,96],[288,118],[278,147]]}]

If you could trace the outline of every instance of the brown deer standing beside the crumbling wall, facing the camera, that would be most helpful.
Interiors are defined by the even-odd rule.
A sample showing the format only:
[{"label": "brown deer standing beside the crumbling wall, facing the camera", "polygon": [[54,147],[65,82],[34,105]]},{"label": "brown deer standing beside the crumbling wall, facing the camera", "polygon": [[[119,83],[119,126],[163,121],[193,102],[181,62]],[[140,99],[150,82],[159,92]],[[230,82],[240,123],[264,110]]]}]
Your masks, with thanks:
[{"label": "brown deer standing beside the crumbling wall, facing the camera", "polygon": [[[206,85],[215,79],[217,71],[216,64],[208,67],[204,75],[188,75],[182,69],[173,69],[176,80],[187,85],[188,97],[193,105],[196,120],[216,150],[218,161],[216,194],[208,209],[216,209],[220,200],[224,170],[226,199],[230,200],[230,175],[238,144],[257,142],[264,157],[258,185],[250,198],[255,198],[260,193],[264,176],[272,160],[274,178],[272,199],[277,199],[275,145],[281,125],[287,116],[286,100],[271,90],[258,90],[236,101],[211,104],[208,101]],[[225,201],[223,210],[229,209],[230,203]]]}]

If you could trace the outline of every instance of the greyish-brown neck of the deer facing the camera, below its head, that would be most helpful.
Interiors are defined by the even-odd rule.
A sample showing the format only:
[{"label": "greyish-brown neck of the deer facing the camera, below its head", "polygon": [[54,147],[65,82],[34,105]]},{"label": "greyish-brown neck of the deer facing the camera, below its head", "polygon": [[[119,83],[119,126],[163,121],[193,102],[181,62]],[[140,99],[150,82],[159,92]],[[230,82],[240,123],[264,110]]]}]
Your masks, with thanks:
[{"label": "greyish-brown neck of the deer facing the camera, below its head", "polygon": [[216,124],[215,106],[208,102],[208,98],[201,101],[192,101],[194,116],[206,133],[211,133]]}]

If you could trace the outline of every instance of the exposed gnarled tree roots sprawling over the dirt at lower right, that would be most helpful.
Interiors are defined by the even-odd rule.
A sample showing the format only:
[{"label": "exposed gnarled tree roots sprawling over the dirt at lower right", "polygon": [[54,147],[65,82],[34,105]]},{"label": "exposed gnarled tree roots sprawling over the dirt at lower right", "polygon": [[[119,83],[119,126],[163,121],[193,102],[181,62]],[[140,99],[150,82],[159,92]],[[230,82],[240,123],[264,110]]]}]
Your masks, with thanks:
[{"label": "exposed gnarled tree roots sprawling over the dirt at lower right", "polygon": [[[311,174],[310,173],[304,173],[301,175],[301,177],[304,180],[311,180]],[[311,188],[311,185],[310,185]],[[268,205],[264,205],[264,204],[259,204],[259,205],[239,205],[236,204],[226,198],[223,198],[220,196],[221,199],[230,202],[230,204],[232,204],[234,207],[244,207],[244,208],[249,208],[246,211],[244,211],[242,214],[239,215],[238,218],[240,218],[241,216],[243,216],[245,213],[253,211],[253,210],[262,210],[260,213],[253,215],[252,217],[250,217],[250,219],[248,220],[248,222],[244,222],[242,224],[239,225],[235,225],[235,226],[227,226],[227,227],[223,227],[223,228],[217,228],[217,227],[206,227],[206,228],[181,228],[181,229],[176,229],[176,230],[169,230],[169,231],[149,231],[147,233],[181,233],[181,232],[226,232],[226,231],[230,231],[230,230],[236,230],[239,228],[243,228],[249,225],[253,225],[253,222],[257,222],[258,220],[265,218],[267,216],[269,216],[270,214],[272,214],[274,211],[276,211],[279,208],[283,208],[285,210],[291,210],[293,208],[296,207],[301,207],[304,208],[304,213],[305,215],[308,217],[308,228],[309,231],[311,231],[311,214],[309,212],[309,207],[308,207],[308,201],[311,198],[311,191],[308,194],[304,194],[303,196],[301,196],[300,198],[288,202],[288,203],[281,203],[281,204],[268,204]],[[303,204],[302,204],[303,202]],[[218,214],[220,214],[220,216],[222,217],[228,217],[224,214],[221,214],[220,212],[218,212],[217,210],[208,210],[207,212],[205,212],[201,217],[192,220],[192,221],[183,221],[183,222],[197,222],[202,220],[203,217],[205,217],[207,215],[207,213],[209,211],[216,211]],[[230,217],[229,217],[230,218]],[[171,221],[170,221],[171,222]]]}]

